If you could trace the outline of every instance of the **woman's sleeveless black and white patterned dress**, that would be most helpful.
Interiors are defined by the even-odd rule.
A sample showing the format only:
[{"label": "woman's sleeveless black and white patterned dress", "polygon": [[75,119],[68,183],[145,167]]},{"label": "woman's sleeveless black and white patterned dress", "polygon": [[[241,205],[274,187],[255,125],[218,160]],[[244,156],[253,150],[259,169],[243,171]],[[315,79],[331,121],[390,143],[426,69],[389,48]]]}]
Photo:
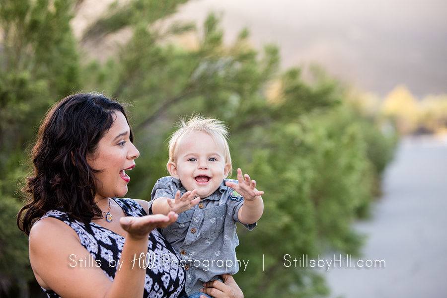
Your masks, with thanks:
[{"label": "woman's sleeveless black and white patterned dress", "polygon": [[[113,199],[123,209],[126,216],[141,217],[146,211],[131,199]],[[113,231],[90,222],[85,225],[76,221],[69,214],[57,210],[47,212],[41,219],[51,217],[70,225],[79,236],[85,249],[100,263],[104,274],[113,281],[121,258],[125,238]],[[154,229],[148,241],[149,266],[146,269],[145,293],[143,297],[177,298],[185,287],[185,269],[179,264],[180,259],[172,246]],[[164,260],[164,262],[163,262]],[[166,262],[169,260],[169,262]],[[98,262],[99,261],[99,262]],[[110,266],[110,264],[117,264]],[[137,261],[138,265],[138,261]],[[47,291],[49,298],[59,298],[54,291]]]}]

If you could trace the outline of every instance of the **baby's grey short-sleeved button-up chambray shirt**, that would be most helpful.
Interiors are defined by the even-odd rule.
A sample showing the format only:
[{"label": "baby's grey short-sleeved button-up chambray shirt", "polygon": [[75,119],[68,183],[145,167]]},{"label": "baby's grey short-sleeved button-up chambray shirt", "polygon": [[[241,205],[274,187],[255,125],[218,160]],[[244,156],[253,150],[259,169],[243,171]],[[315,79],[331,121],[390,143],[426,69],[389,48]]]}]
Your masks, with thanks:
[{"label": "baby's grey short-sleeved button-up chambray shirt", "polygon": [[[211,196],[180,213],[174,224],[161,230],[163,237],[180,254],[180,265],[186,269],[185,290],[188,295],[203,289],[204,282],[215,280],[221,274],[235,274],[239,270],[235,252],[239,239],[235,223],[240,223],[237,212],[243,198],[235,196],[234,190],[225,185],[226,181],[238,183],[237,180],[224,179]],[[159,179],[151,193],[149,213],[154,199],[173,199],[177,190],[181,195],[186,192],[176,178],[168,176]],[[256,223],[244,226],[252,230]]]}]

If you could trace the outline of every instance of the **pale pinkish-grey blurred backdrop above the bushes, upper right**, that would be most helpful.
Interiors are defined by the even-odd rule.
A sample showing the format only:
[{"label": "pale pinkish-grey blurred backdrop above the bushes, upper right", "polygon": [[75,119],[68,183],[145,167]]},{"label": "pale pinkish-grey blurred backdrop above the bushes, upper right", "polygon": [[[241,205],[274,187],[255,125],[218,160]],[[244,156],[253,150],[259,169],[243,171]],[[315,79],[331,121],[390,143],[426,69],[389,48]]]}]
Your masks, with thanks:
[{"label": "pale pinkish-grey blurred backdrop above the bushes, upper right", "polygon": [[405,84],[421,98],[447,93],[446,0],[192,0],[177,18],[222,13],[225,39],[244,27],[256,47],[281,47],[282,66],[316,62],[364,91]]}]

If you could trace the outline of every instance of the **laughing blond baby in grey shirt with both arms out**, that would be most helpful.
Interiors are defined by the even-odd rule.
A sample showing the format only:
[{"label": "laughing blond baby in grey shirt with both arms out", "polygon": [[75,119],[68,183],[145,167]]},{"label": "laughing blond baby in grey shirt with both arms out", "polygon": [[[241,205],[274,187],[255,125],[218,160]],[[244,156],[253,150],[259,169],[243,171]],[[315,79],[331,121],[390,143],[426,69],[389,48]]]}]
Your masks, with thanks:
[{"label": "laughing blond baby in grey shirt with both arms out", "polygon": [[252,230],[264,210],[264,192],[247,174],[237,169],[237,180],[225,179],[232,170],[227,137],[216,119],[180,121],[169,142],[171,176],[159,179],[151,194],[153,214],[179,214],[162,235],[182,258],[190,297],[199,297],[203,283],[238,271],[235,223]]}]

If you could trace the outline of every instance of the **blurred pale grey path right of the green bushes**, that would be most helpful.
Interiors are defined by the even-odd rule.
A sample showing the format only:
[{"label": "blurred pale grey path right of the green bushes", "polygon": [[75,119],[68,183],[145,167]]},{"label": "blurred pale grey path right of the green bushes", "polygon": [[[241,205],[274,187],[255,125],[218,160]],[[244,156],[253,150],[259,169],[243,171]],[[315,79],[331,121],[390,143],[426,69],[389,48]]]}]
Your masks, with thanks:
[{"label": "blurred pale grey path right of the green bushes", "polygon": [[386,265],[330,268],[331,297],[446,298],[447,142],[403,140],[383,190],[373,220],[356,229],[369,235],[361,259]]}]

